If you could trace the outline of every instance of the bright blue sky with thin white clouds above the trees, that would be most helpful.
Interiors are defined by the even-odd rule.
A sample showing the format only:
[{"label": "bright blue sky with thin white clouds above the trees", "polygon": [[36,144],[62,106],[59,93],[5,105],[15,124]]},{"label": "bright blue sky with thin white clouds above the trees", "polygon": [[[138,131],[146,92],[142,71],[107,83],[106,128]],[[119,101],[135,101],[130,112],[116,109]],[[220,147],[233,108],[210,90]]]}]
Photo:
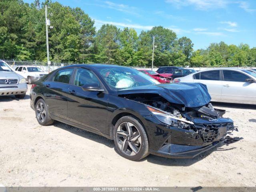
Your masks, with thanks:
[{"label": "bright blue sky with thin white clouds above the trees", "polygon": [[[55,0],[53,0],[55,1]],[[194,49],[212,42],[241,42],[256,47],[256,0],[57,0],[80,7],[102,24],[114,24],[141,30],[164,26],[186,36]],[[24,0],[31,3],[33,0]]]}]

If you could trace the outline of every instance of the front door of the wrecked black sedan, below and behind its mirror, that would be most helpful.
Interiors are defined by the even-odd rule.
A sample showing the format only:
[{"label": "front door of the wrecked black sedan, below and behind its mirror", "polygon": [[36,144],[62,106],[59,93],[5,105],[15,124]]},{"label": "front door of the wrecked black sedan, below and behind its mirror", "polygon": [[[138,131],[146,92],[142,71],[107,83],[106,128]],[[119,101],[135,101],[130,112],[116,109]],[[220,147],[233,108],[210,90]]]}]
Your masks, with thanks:
[{"label": "front door of the wrecked black sedan, below and behind its mirror", "polygon": [[99,84],[91,70],[77,68],[73,84],[68,90],[68,118],[70,121],[106,133],[108,93],[83,90],[85,84]]}]

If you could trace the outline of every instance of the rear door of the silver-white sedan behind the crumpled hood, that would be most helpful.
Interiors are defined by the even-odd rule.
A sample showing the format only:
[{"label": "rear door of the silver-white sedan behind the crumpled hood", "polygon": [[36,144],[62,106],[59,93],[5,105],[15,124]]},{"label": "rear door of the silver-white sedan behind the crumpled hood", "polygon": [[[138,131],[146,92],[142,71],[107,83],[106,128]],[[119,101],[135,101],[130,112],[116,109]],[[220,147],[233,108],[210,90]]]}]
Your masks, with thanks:
[{"label": "rear door of the silver-white sedan behind the crumpled hood", "polygon": [[222,93],[222,79],[220,70],[210,70],[195,74],[194,82],[205,84],[208,92],[212,97],[212,101],[219,101]]}]

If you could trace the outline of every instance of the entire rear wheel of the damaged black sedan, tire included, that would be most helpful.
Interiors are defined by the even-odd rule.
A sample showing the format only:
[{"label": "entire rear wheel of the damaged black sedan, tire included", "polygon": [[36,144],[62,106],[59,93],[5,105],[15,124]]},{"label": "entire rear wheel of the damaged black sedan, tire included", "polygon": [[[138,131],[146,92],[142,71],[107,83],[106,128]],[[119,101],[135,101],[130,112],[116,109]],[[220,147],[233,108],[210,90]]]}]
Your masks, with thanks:
[{"label": "entire rear wheel of the damaged black sedan, tire included", "polygon": [[51,119],[48,107],[43,99],[39,99],[36,102],[36,119],[40,125],[51,125],[54,120]]}]

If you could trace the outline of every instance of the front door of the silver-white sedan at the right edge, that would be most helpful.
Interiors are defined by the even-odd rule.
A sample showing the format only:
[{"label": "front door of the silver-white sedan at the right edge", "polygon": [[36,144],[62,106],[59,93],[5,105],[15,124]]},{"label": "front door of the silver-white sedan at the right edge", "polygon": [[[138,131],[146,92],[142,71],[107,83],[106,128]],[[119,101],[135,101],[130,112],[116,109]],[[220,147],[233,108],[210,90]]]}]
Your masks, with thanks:
[{"label": "front door of the silver-white sedan at the right edge", "polygon": [[223,102],[256,104],[256,83],[246,82],[250,78],[235,70],[223,70]]}]

